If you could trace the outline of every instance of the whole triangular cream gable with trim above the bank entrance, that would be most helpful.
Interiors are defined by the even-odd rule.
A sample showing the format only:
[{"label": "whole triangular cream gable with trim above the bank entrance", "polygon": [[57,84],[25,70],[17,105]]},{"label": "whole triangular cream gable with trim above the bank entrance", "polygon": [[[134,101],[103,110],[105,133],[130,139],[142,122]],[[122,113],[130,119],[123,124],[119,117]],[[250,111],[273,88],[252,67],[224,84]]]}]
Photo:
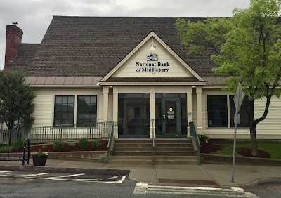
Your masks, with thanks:
[{"label": "whole triangular cream gable with trim above the bank entrance", "polygon": [[[152,55],[155,58],[148,58]],[[110,77],[195,77],[198,81],[204,81],[153,31],[102,81]]]}]

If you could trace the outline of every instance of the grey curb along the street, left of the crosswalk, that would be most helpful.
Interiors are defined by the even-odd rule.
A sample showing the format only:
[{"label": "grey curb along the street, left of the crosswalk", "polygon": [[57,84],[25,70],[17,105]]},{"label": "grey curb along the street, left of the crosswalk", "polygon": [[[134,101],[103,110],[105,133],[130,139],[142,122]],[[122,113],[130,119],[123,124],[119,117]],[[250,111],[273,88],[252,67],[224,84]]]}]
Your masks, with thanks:
[{"label": "grey curb along the street, left of the crosswalk", "polygon": [[97,175],[129,175],[130,170],[125,169],[87,169],[74,167],[54,166],[21,166],[21,165],[0,165],[4,171],[37,171],[51,173],[91,173]]}]

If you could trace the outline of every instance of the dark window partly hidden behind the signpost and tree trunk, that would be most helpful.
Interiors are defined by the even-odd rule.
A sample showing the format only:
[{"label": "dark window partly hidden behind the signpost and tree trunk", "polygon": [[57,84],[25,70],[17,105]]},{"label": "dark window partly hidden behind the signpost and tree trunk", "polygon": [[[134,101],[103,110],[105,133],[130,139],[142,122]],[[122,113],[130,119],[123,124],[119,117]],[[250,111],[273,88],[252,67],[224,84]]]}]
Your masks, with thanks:
[{"label": "dark window partly hidden behind the signpost and tree trunk", "polygon": [[[235,104],[233,101],[234,95],[229,96],[230,102],[230,127],[234,127],[234,114],[235,114]],[[246,103],[242,102],[240,110],[240,124],[237,124],[237,127],[249,127],[249,117],[246,111]]]}]

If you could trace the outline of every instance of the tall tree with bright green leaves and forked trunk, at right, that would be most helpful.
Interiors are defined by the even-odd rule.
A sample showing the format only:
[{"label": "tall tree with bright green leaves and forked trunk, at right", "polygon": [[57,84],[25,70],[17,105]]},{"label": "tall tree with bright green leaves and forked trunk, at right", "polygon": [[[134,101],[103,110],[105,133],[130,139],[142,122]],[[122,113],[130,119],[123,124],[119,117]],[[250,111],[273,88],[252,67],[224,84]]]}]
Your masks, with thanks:
[{"label": "tall tree with bright green leaves and forked trunk, at right", "polygon": [[[211,49],[217,67],[226,76],[226,91],[235,93],[242,85],[247,105],[251,154],[258,154],[256,125],[266,119],[273,96],[280,98],[281,25],[280,0],[251,0],[247,9],[235,8],[231,18],[206,18],[204,21],[176,21],[178,37],[190,55]],[[264,98],[261,117],[254,116],[254,102]]]}]

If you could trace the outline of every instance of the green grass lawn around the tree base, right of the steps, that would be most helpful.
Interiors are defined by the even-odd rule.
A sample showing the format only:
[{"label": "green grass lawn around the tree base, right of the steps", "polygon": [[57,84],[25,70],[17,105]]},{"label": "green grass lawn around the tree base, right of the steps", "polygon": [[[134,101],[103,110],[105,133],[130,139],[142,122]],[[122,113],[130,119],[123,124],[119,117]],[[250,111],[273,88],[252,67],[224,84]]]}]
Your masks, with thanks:
[{"label": "green grass lawn around the tree base, right of the steps", "polygon": [[[211,154],[221,154],[221,155],[233,155],[233,144],[221,144],[221,147],[223,147],[223,150],[211,152]],[[250,144],[246,143],[237,143],[237,148],[251,148]],[[281,144],[280,143],[258,143],[258,149],[263,150],[266,152],[269,152],[271,155],[271,159],[281,159]],[[236,156],[240,156],[236,152]]]}]

